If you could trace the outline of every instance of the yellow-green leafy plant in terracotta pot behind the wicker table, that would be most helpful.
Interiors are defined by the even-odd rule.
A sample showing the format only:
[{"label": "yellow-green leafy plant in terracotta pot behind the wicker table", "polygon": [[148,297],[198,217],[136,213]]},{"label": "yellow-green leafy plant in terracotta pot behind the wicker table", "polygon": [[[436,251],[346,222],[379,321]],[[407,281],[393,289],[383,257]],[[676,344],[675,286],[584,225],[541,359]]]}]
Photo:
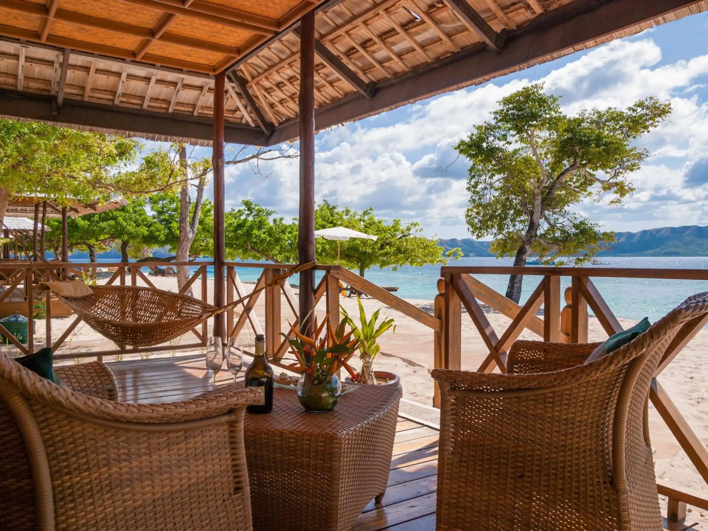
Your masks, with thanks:
[{"label": "yellow-green leafy plant in terracotta pot behind the wicker table", "polygon": [[376,359],[376,355],[381,351],[381,346],[378,343],[378,339],[382,334],[393,327],[394,333],[396,332],[396,325],[394,324],[394,319],[386,317],[378,326],[377,321],[379,320],[379,315],[381,314],[381,309],[377,309],[370,319],[367,319],[366,312],[364,311],[364,305],[361,303],[361,299],[357,295],[357,302],[359,304],[359,323],[355,323],[354,319],[347,313],[346,309],[342,307],[342,316],[344,321],[346,321],[353,331],[353,335],[359,341],[359,359],[361,360],[361,372],[352,376],[353,381],[360,382],[362,384],[388,384],[388,385],[399,385],[400,379],[398,375],[393,372],[387,371],[375,371],[373,369],[373,363]]}]

